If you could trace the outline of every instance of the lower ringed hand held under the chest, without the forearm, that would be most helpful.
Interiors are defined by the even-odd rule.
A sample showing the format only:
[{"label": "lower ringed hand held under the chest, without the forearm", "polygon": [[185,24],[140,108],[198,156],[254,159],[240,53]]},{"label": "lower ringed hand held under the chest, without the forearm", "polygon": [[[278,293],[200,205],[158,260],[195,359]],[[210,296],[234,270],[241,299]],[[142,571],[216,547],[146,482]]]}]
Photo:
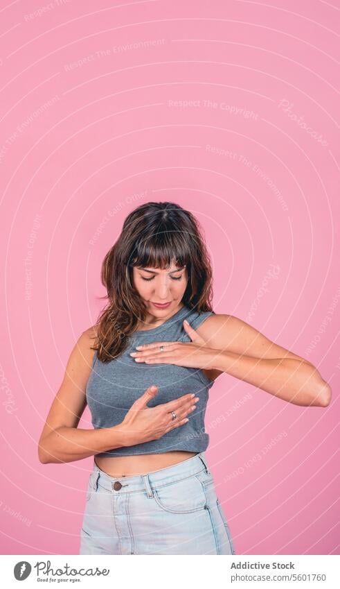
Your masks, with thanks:
[{"label": "lower ringed hand held under the chest, without the forearm", "polygon": [[[147,407],[158,391],[155,385],[149,386],[145,393],[132,404],[121,422],[125,445],[133,446],[152,440],[158,440],[171,429],[188,422],[187,416],[195,409],[199,397],[188,393],[178,399],[161,403],[156,407]],[[175,411],[176,419],[172,419],[171,411]]]}]

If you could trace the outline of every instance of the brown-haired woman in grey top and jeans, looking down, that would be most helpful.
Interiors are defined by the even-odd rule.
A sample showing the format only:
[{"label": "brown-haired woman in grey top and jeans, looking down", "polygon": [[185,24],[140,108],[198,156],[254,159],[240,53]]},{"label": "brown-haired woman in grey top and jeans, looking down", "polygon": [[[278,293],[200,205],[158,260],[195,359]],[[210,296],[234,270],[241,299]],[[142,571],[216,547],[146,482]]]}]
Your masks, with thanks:
[{"label": "brown-haired woman in grey top and jeans, looking down", "polygon": [[[325,407],[310,362],[211,308],[193,214],[146,203],[102,264],[108,304],[78,339],[39,441],[42,463],[94,456],[80,554],[235,554],[206,455],[208,391],[222,373]],[[86,404],[94,429],[78,429]]]}]

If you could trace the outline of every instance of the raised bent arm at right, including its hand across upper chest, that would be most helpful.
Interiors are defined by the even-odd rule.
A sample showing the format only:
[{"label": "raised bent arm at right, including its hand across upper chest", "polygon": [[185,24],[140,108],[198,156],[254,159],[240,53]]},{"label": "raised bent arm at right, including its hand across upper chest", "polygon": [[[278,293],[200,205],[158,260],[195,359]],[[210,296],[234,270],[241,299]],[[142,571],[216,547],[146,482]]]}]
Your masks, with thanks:
[{"label": "raised bent arm at right, including its hand across upper chest", "polygon": [[224,372],[296,405],[330,404],[332,389],[313,364],[270,341],[242,319],[215,314],[197,330],[185,323],[184,329],[190,343],[149,343],[138,346],[131,355],[147,364]]}]

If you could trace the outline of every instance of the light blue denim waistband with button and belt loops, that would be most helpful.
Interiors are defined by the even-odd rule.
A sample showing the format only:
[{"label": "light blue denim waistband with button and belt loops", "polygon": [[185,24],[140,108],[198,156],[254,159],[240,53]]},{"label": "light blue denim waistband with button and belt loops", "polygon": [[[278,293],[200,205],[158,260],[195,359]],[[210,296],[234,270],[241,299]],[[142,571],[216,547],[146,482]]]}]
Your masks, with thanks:
[{"label": "light blue denim waistband with button and belt loops", "polygon": [[134,493],[135,491],[146,490],[147,495],[152,497],[152,487],[169,484],[177,480],[185,479],[197,472],[205,470],[208,475],[210,471],[204,452],[199,452],[187,460],[153,470],[144,475],[133,475],[132,477],[110,477],[106,472],[101,470],[93,460],[93,470],[90,475],[90,486],[95,491],[98,490],[98,484],[112,493]]}]

